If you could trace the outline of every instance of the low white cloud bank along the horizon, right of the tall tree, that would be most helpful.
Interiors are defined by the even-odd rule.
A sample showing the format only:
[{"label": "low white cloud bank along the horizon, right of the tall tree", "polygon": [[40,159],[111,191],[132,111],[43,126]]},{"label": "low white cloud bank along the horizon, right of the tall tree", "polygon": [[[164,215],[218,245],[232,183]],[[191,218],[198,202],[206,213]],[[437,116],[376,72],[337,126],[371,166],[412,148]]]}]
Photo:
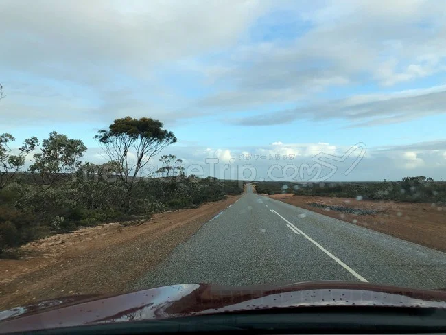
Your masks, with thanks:
[{"label": "low white cloud bank along the horizon, right of the tall tree", "polygon": [[[237,146],[228,148],[205,148],[201,146],[172,146],[166,151],[182,158],[186,165],[200,166],[204,176],[209,173],[207,158],[218,158],[215,165],[215,175],[220,178],[230,178],[231,169],[241,169],[249,166],[256,171],[257,179],[279,178],[282,171],[277,167],[295,167],[299,171],[303,164],[313,165],[312,157],[325,152],[326,154],[342,155],[349,146],[326,143],[281,143],[280,145]],[[329,160],[338,167],[328,181],[382,181],[401,180],[404,176],[427,175],[435,180],[444,178],[446,141],[418,142],[403,146],[369,147],[367,154],[347,176],[344,172],[355,161],[359,152],[353,152],[344,162]],[[154,159],[156,164],[156,159]],[[273,174],[271,174],[274,170]],[[292,172],[292,168],[288,172]],[[232,170],[233,171],[233,170]],[[304,174],[305,178],[308,178]],[[233,175],[232,175],[233,178]],[[283,180],[290,178],[283,177]],[[295,181],[302,181],[296,176]]]}]

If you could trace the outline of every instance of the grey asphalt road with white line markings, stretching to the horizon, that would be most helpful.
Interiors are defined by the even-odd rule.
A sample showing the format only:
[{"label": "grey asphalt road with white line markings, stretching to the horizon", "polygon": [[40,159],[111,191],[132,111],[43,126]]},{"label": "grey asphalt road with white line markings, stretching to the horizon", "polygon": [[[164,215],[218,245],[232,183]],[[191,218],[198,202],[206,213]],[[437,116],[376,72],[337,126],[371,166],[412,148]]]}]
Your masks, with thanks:
[{"label": "grey asphalt road with white line markings, stretching to the horizon", "polygon": [[369,281],[446,288],[446,254],[247,192],[132,288]]}]

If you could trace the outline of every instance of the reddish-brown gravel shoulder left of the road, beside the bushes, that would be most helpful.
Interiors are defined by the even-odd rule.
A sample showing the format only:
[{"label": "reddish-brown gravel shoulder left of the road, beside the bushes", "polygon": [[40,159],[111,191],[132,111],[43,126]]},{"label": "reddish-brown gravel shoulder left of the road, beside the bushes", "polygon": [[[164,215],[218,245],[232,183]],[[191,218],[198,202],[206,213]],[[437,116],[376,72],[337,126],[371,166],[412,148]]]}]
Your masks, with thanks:
[{"label": "reddish-brown gravel shoulder left of the road, beside the bushes", "polygon": [[0,310],[75,294],[124,292],[240,196],[154,215],[139,226],[105,224],[23,246],[36,257],[0,259]]}]

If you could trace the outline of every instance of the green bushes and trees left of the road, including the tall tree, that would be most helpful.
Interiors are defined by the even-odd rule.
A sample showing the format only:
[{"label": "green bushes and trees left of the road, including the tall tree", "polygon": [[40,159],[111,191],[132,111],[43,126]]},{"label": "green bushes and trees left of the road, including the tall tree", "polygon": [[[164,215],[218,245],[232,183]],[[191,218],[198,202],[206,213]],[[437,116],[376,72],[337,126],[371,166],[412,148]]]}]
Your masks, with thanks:
[{"label": "green bushes and trees left of the road, including the tall tree", "polygon": [[172,154],[148,174],[149,161],[176,142],[158,120],[115,119],[95,138],[107,163],[82,161],[84,143],[58,132],[25,139],[17,150],[11,134],[0,134],[0,257],[16,257],[17,246],[54,233],[147,220],[243,192],[237,182],[186,176]]}]

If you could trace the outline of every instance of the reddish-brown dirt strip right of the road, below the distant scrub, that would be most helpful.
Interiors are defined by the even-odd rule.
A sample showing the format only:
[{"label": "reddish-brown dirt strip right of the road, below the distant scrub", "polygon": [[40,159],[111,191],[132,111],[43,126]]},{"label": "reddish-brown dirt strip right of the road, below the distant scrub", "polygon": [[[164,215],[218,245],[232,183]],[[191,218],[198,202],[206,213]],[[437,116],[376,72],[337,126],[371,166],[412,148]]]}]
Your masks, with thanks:
[{"label": "reddish-brown dirt strip right of the road, below the distant scrub", "polygon": [[[442,207],[442,205],[430,203],[395,203],[292,194],[274,194],[270,198],[446,252],[446,207],[444,205]],[[378,212],[371,215],[357,215],[314,207],[309,203],[353,209],[375,209]]]}]

